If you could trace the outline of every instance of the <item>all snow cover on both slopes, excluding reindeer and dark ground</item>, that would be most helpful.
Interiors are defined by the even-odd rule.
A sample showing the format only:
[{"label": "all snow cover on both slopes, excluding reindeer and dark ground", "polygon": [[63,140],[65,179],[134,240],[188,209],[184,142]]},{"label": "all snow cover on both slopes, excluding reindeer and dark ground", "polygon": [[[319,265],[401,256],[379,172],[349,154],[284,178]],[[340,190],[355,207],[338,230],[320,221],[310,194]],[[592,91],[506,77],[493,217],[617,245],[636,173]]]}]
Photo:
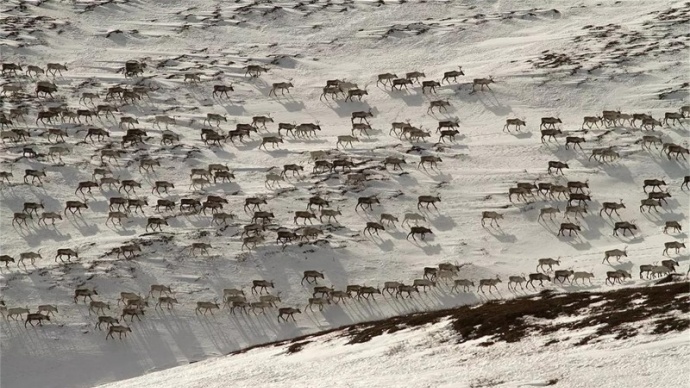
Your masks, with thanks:
[{"label": "all snow cover on both slopes, excluding reindeer and dark ground", "polygon": [[[656,279],[640,274],[640,265],[662,260],[675,260],[675,271],[685,275],[688,250],[679,245],[678,250],[665,251],[665,244],[683,244],[688,230],[690,189],[682,184],[690,175],[690,109],[680,120],[672,120],[688,105],[688,4],[3,1],[0,255],[13,261],[3,256],[7,267],[0,263],[2,300],[7,312],[26,307],[35,313],[39,305],[54,305],[57,312],[42,326],[32,321],[36,326],[25,328],[25,313],[0,321],[0,385],[354,387],[366,381],[370,387],[386,387],[404,381],[410,386],[513,387],[545,386],[556,379],[551,385],[614,387],[624,381],[635,387],[681,386],[688,377],[683,373],[689,361],[688,330],[686,321],[673,318],[682,318],[682,306],[671,302],[653,310],[657,318],[668,319],[666,323],[640,313],[625,321],[635,322],[626,323],[634,327],[624,324],[612,332],[597,331],[601,322],[596,320],[590,328],[567,326],[566,320],[555,333],[530,336],[530,327],[513,342],[490,339],[505,328],[497,325],[495,330],[477,329],[476,337],[458,343],[458,336],[472,333],[453,331],[451,318],[437,316],[416,330],[382,329],[378,334],[383,335],[363,344],[342,346],[350,339],[331,332],[326,340],[304,344],[292,355],[285,354],[289,345],[283,344],[227,361],[204,360],[347,325],[455,307],[462,312],[485,302],[491,302],[485,307],[489,310],[483,310],[487,316],[559,320],[546,310],[502,308],[515,298],[537,297],[542,290],[549,293],[539,298],[648,289]],[[146,67],[125,77],[132,70],[125,66],[127,61]],[[65,68],[48,67],[49,63]],[[9,64],[21,69],[15,71]],[[249,77],[249,65],[268,71]],[[463,75],[444,79],[444,73],[459,72],[460,67]],[[413,71],[424,74],[411,84],[398,81],[399,88],[392,88],[391,81],[377,82],[379,74],[405,78]],[[335,79],[357,84],[367,94],[352,101],[344,95],[322,95],[326,81]],[[475,79],[493,82],[488,89],[473,90]],[[37,96],[39,81],[44,83]],[[423,89],[425,81],[440,86]],[[276,83],[292,86],[273,93]],[[224,94],[216,85],[232,85],[232,90]],[[109,95],[116,86],[129,92]],[[43,93],[46,90],[52,95]],[[432,101],[449,106],[431,109]],[[106,115],[102,105],[117,111]],[[68,108],[62,118],[38,120],[49,108],[60,106]],[[87,110],[94,112],[91,118]],[[658,122],[648,120],[643,128],[642,119],[623,116],[598,121],[591,128],[583,125],[583,117],[601,116],[604,110],[648,114]],[[352,119],[358,111],[371,113],[366,117],[370,128],[353,128],[353,123],[365,122]],[[219,115],[218,120],[213,115]],[[269,115],[265,127],[257,124],[249,137],[225,138],[238,125]],[[166,124],[161,116],[174,121]],[[125,119],[121,124],[124,117],[132,122]],[[542,139],[542,117],[558,118],[553,129],[560,133]],[[508,119],[526,123],[519,131],[514,126],[506,129]],[[391,130],[392,123],[408,121],[420,129],[411,137]],[[440,138],[437,127],[442,121],[447,122],[442,128],[446,131],[456,126],[454,138]],[[279,123],[313,123],[320,130],[302,136],[285,129],[279,133]],[[85,138],[95,133],[93,128],[109,136]],[[134,131],[134,141],[123,143],[123,135],[129,129],[131,136],[132,128],[144,132],[136,136]],[[210,129],[217,131],[216,141]],[[21,131],[26,131],[25,138]],[[262,137],[279,135],[282,143],[261,146]],[[337,144],[345,135],[357,140]],[[660,143],[643,142],[643,136],[657,136]],[[566,148],[566,137],[584,142],[581,148],[572,142]],[[608,147],[609,154],[592,157],[593,150]],[[112,151],[109,148],[125,152],[103,158]],[[679,152],[668,154],[670,150]],[[328,153],[315,158],[314,151]],[[435,167],[420,166],[422,157],[440,161]],[[404,158],[405,163],[400,168],[384,163],[391,158]],[[352,168],[315,169],[314,159],[345,160]],[[153,161],[150,166],[147,160]],[[567,163],[567,168],[563,174],[549,173],[549,162]],[[208,171],[209,164],[227,165],[232,174],[214,179],[193,171]],[[299,171],[267,181],[267,175],[280,176],[291,164]],[[118,190],[116,182],[75,191],[81,182],[103,183],[103,175],[93,175],[97,168],[110,170],[106,179],[133,180],[141,187],[127,192]],[[36,179],[29,175],[25,180],[29,169],[36,170]],[[648,198],[643,191],[648,179],[661,179],[664,185],[647,187],[646,192],[670,194],[656,210],[640,209]],[[586,183],[580,193],[590,195],[587,201],[571,204],[587,205],[587,212],[577,217],[564,217],[567,192],[542,195],[532,190],[532,195],[509,197],[509,189],[518,182],[566,186],[575,181]],[[156,182],[170,187],[156,192]],[[180,210],[181,199],[203,203],[208,195],[226,199],[220,211],[233,217],[214,218],[216,210],[211,208],[198,213]],[[374,195],[378,203],[371,208],[358,206],[359,198]],[[295,219],[295,212],[307,210],[315,196],[328,202],[324,209],[339,212],[336,219],[315,205],[315,218]],[[420,196],[440,201],[435,207],[419,207]],[[110,208],[116,197],[141,200],[142,206]],[[251,243],[243,246],[243,227],[252,223],[254,211],[244,207],[250,197],[265,199],[261,210],[275,216],[255,248]],[[175,205],[157,209],[162,200]],[[88,208],[65,212],[67,201],[82,201]],[[16,213],[27,202],[42,207],[23,223]],[[600,216],[604,203],[621,202],[625,207],[617,213]],[[540,217],[546,207],[559,212]],[[113,215],[121,217],[120,224],[108,217],[109,211],[122,212]],[[502,216],[498,225],[489,219],[482,225],[486,211]],[[54,225],[50,219],[39,222],[47,212],[61,219]],[[431,234],[413,239],[409,233],[415,221],[401,222],[406,213],[423,216],[418,226],[429,228]],[[381,221],[382,214],[398,221]],[[165,221],[160,231],[151,230],[151,217]],[[634,235],[623,230],[613,234],[615,223],[622,221],[636,225]],[[680,230],[665,231],[670,221]],[[371,222],[381,222],[384,230],[365,231]],[[559,235],[561,223],[580,230]],[[302,236],[305,224],[317,228],[318,234],[284,245],[277,240],[279,232]],[[132,244],[140,250],[118,254]],[[58,258],[58,249],[71,249],[78,257]],[[602,261],[604,252],[614,249],[624,255]],[[33,262],[29,252],[37,254]],[[21,254],[25,259],[20,264]],[[542,258],[559,262],[551,269],[537,268]],[[409,298],[383,290],[368,299],[326,304],[322,311],[316,305],[306,308],[314,286],[344,291],[355,284],[411,285],[424,278],[425,267],[439,263],[457,265],[457,273],[437,279],[436,287],[419,288]],[[555,270],[568,269],[593,277],[543,285],[535,281],[532,288],[523,282],[515,289],[509,278],[529,280],[530,274],[542,272],[553,280]],[[307,270],[319,271],[323,278],[318,284],[302,282]],[[607,283],[607,272],[616,270],[631,276]],[[497,277],[497,288],[478,289],[480,279]],[[454,289],[454,281],[460,279],[473,284]],[[229,288],[243,289],[249,302],[258,302],[259,296],[251,292],[253,280],[273,283],[262,295],[268,291],[279,296],[275,307],[264,308],[262,314],[259,308],[231,312],[223,306],[223,290]],[[120,293],[145,297],[153,284],[170,286],[170,296],[178,302],[174,308],[156,308],[159,292],[154,292],[141,320],[120,320],[131,328],[126,338],[120,340],[114,333],[115,338],[106,340],[107,325],[95,327],[98,316],[120,318]],[[90,312],[88,299],[81,297],[75,304],[78,288],[95,288],[93,299],[109,303],[108,308]],[[687,306],[690,290],[676,291]],[[584,296],[578,295],[573,304],[581,303],[578,298]],[[641,303],[634,294],[611,295],[629,305]],[[197,302],[218,303],[220,308],[199,312]],[[294,321],[278,321],[279,307],[301,312],[294,314]],[[655,332],[659,325],[663,328]],[[568,334],[569,329],[577,334]],[[637,330],[634,336],[632,329]],[[574,347],[587,336],[608,340]],[[614,341],[616,336],[620,338]],[[558,342],[542,346],[551,340]],[[487,346],[491,341],[496,343]],[[195,365],[173,368],[189,363]],[[318,372],[307,370],[307,365]],[[144,380],[125,381],[142,375],[147,375]]]}]

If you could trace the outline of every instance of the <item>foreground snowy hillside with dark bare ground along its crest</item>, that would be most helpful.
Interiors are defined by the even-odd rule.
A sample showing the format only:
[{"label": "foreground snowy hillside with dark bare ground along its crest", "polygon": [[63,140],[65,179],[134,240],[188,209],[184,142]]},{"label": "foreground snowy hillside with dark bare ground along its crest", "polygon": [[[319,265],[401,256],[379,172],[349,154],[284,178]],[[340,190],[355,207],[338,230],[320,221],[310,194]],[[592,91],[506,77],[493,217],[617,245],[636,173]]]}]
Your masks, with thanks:
[{"label": "foreground snowy hillside with dark bare ground along its crest", "polygon": [[[630,289],[611,295],[579,295],[576,303],[570,303],[575,298],[565,295],[513,300],[498,306],[527,313],[524,319],[505,322],[506,327],[515,330],[476,340],[458,335],[458,329],[473,329],[460,321],[484,316],[490,319],[477,327],[488,326],[485,329],[490,331],[498,317],[485,316],[491,309],[488,305],[470,311],[445,312],[452,313],[452,317],[444,316],[443,312],[420,313],[249,349],[107,384],[104,388],[393,387],[401,382],[416,387],[449,388],[620,387],[623,384],[681,387],[690,377],[685,367],[690,360],[690,341],[687,332],[659,335],[658,329],[665,327],[659,323],[669,320],[657,310],[675,310],[669,299],[676,299],[678,306],[685,306],[685,315],[673,311],[670,316],[681,320],[687,317],[688,294],[678,295],[679,290],[687,290],[687,283]],[[636,301],[634,306],[625,306],[631,298]],[[554,301],[563,306],[560,311],[553,309],[547,313],[555,318],[537,318],[544,313],[539,311],[541,306]],[[602,309],[602,306],[607,307]],[[595,313],[596,310],[600,311]],[[648,317],[653,318],[629,320],[638,312],[651,313]],[[597,319],[595,316],[606,323],[598,328],[590,326],[587,321]],[[687,319],[685,322],[687,327]],[[576,329],[578,323],[584,327]],[[619,325],[618,332],[598,333],[600,328],[609,325]],[[514,331],[529,334],[515,341]],[[497,339],[501,336],[513,338],[506,343]]]}]

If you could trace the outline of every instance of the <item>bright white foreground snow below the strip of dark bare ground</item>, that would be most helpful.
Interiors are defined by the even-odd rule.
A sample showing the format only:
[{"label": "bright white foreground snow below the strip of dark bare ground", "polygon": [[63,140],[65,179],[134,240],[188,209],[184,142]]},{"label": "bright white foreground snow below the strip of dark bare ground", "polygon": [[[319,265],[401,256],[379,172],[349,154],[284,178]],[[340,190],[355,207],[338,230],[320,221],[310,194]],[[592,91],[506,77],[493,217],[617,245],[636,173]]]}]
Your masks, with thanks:
[{"label": "bright white foreground snow below the strip of dark bare ground", "polygon": [[[320,338],[287,354],[287,345],[202,361],[102,388],[158,387],[681,387],[690,360],[687,333],[574,346],[573,334],[498,343],[454,344],[444,322],[385,334],[364,344]],[[663,371],[666,371],[664,373]],[[554,380],[556,380],[554,382]],[[164,382],[164,383],[163,383]],[[555,384],[554,384],[555,383]]]}]

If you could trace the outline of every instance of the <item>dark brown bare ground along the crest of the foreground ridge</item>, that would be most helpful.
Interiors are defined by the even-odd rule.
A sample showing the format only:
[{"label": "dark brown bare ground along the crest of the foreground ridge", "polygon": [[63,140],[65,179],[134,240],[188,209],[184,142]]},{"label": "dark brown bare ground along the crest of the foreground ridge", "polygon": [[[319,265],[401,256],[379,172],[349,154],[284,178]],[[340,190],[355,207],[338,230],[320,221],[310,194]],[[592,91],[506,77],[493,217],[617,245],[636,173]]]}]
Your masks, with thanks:
[{"label": "dark brown bare ground along the crest of the foreground ridge", "polygon": [[[616,339],[636,336],[640,329],[636,324],[642,321],[651,322],[654,334],[688,330],[688,313],[690,283],[687,281],[609,292],[555,294],[545,290],[537,295],[515,299],[359,323],[287,341],[253,346],[230,355],[258,347],[287,344],[290,344],[287,352],[295,353],[317,337],[338,331],[350,339],[348,344],[363,343],[384,333],[433,324],[441,319],[451,320],[452,327],[458,334],[455,339],[457,343],[485,338],[486,341],[481,346],[490,346],[499,341],[518,342],[526,336],[549,334],[558,330],[579,330],[596,326],[595,333],[578,342],[578,345],[584,345],[605,335],[615,335]],[[574,316],[582,318],[575,321],[570,319],[568,322],[546,322]]]}]

